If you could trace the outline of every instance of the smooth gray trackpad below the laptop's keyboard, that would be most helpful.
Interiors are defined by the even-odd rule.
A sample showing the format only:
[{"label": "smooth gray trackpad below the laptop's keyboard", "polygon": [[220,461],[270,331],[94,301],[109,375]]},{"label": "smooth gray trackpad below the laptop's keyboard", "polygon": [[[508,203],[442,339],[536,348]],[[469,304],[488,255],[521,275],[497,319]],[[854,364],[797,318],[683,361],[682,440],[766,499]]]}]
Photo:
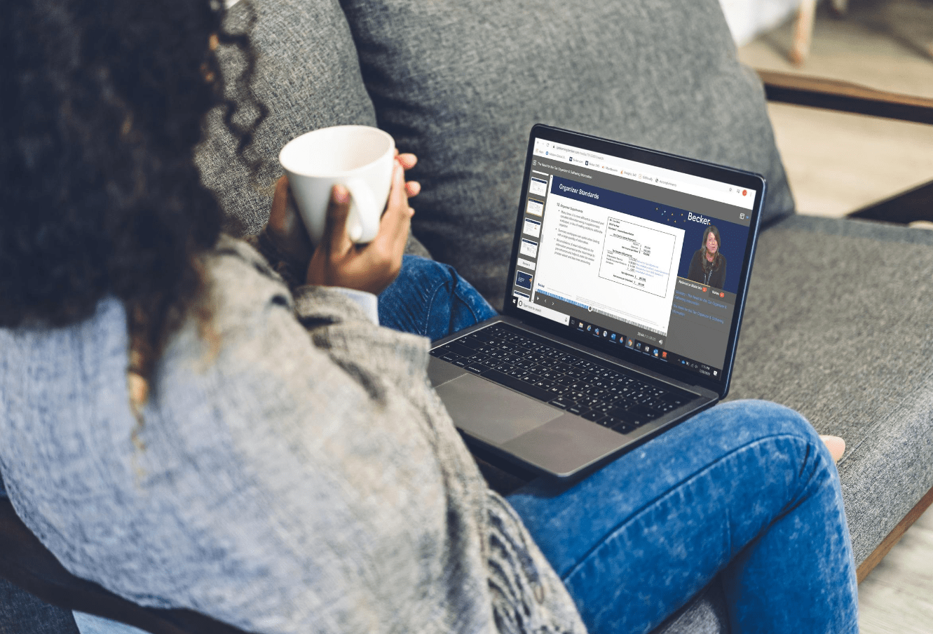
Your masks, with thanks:
[{"label": "smooth gray trackpad below the laptop's keyboard", "polygon": [[440,400],[461,430],[492,444],[503,444],[564,412],[531,397],[464,374],[437,387]]}]

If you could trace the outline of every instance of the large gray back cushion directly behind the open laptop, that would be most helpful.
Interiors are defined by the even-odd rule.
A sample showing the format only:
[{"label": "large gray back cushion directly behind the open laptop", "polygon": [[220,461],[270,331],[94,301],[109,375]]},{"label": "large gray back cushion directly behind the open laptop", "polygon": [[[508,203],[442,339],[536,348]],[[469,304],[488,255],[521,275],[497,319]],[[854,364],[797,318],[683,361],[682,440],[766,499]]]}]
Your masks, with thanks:
[{"label": "large gray back cushion directly behind the open laptop", "polygon": [[413,231],[500,304],[543,122],[764,174],[793,202],[717,0],[341,0],[380,127],[421,159]]}]

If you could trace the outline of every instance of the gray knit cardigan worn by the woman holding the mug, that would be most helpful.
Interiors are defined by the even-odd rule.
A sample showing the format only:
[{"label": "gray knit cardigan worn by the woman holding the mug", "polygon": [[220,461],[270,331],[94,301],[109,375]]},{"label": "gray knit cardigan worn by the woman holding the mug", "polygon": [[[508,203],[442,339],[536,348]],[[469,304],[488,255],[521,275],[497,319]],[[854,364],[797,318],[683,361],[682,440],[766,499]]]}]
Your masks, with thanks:
[{"label": "gray knit cardigan worn by the woman holding the mug", "polygon": [[163,355],[137,448],[123,307],[0,330],[0,472],[65,568],[244,630],[583,632],[425,374],[428,342],[242,242],[205,258],[212,355]]}]

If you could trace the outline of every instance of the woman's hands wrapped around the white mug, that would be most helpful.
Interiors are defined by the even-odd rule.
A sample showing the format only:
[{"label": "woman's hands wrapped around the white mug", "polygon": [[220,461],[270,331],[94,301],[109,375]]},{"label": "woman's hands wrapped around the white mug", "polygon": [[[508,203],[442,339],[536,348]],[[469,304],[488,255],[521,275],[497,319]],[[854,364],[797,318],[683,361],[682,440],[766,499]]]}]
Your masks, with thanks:
[{"label": "woman's hands wrapped around the white mug", "polygon": [[[421,186],[414,181],[405,183],[404,176],[401,176],[403,170],[414,167],[418,159],[413,154],[397,154],[396,160],[398,165],[393,174],[389,202],[380,223],[379,233],[369,245],[355,245],[346,235],[349,194],[345,188],[335,186],[331,192],[324,237],[315,250],[304,228],[304,223],[301,221],[295,200],[288,189],[287,178],[282,176],[276,183],[272,212],[266,232],[285,260],[296,268],[307,270],[309,284],[381,292],[398,275],[401,253],[408,239],[413,213],[408,206],[408,198],[416,196],[421,191]],[[399,218],[399,214],[407,216]],[[387,223],[386,218],[395,218],[395,222]],[[399,219],[403,222],[399,223]],[[397,235],[389,234],[389,232],[399,231],[402,232],[400,239]],[[392,269],[390,266],[388,270],[383,270],[386,265],[386,249],[397,246],[399,241],[400,247],[397,249],[397,254],[393,252],[389,258],[389,260],[394,260],[397,255],[395,272],[388,281],[384,281],[384,274],[391,273]],[[370,251],[370,247],[375,248]],[[366,271],[361,270],[367,266],[373,267],[370,272],[373,275],[367,275]],[[381,274],[378,273],[380,271],[382,271]]]}]

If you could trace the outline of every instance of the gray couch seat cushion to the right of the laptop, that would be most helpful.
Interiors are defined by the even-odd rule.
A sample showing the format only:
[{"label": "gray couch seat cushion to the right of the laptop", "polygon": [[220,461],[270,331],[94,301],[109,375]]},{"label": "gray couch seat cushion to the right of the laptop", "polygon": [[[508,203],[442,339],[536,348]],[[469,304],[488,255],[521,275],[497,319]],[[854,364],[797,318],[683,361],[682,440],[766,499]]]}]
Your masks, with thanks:
[{"label": "gray couch seat cushion to the right of the laptop", "polygon": [[730,399],[842,436],[856,563],[933,487],[933,232],[793,216],[762,232]]}]

